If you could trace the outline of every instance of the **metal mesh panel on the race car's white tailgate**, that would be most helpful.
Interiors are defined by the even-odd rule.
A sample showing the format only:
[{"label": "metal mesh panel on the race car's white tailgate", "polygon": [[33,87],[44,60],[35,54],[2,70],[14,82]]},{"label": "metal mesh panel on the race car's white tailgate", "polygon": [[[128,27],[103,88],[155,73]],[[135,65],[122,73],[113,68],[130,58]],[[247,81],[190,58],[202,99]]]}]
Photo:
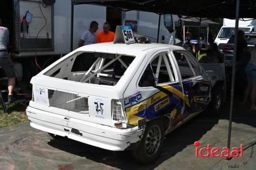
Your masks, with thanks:
[{"label": "metal mesh panel on the race car's white tailgate", "polygon": [[52,107],[78,113],[89,113],[88,98],[77,94],[48,90],[49,104]]}]

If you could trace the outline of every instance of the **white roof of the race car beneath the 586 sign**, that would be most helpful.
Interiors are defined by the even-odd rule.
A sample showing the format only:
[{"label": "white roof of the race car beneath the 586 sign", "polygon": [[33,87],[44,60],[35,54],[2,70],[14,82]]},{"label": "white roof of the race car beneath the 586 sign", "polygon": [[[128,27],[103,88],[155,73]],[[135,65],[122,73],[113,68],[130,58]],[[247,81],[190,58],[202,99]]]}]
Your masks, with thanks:
[{"label": "white roof of the race car beneath the 586 sign", "polygon": [[160,43],[95,43],[90,45],[84,45],[78,48],[76,51],[90,51],[90,52],[102,52],[102,53],[117,53],[134,55],[138,53],[147,53],[150,51],[159,51],[164,49],[170,50],[184,50],[184,48],[176,45],[160,44]]}]

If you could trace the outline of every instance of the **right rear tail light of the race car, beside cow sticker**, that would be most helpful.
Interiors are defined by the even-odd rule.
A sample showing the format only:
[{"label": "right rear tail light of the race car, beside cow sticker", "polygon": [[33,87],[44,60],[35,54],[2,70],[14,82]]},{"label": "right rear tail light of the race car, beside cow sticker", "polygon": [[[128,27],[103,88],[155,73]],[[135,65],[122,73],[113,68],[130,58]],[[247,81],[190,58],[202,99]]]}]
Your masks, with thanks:
[{"label": "right rear tail light of the race car, beside cow sticker", "polygon": [[124,110],[122,109],[122,102],[119,100],[112,101],[112,120],[115,122],[115,127],[126,128],[127,118],[125,116]]}]

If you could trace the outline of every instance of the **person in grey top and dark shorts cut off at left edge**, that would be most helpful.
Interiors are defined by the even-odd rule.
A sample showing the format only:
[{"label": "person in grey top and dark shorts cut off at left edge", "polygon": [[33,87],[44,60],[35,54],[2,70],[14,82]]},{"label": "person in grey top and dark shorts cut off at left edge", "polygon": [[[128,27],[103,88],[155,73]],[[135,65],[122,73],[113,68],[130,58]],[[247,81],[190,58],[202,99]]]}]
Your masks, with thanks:
[{"label": "person in grey top and dark shorts cut off at left edge", "polygon": [[0,66],[4,69],[6,76],[8,77],[8,102],[14,102],[12,95],[13,88],[15,86],[15,72],[13,63],[9,57],[7,51],[7,45],[9,43],[9,30],[2,27],[2,21],[0,19]]}]

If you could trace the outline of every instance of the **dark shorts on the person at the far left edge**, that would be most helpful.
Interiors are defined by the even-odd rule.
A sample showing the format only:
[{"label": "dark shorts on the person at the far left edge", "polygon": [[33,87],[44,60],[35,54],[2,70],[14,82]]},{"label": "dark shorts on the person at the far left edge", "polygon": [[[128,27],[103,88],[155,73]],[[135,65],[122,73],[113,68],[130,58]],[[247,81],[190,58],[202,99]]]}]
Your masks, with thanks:
[{"label": "dark shorts on the person at the far left edge", "polygon": [[8,78],[13,78],[15,76],[13,63],[10,57],[0,57],[0,67],[5,70],[5,75]]}]

